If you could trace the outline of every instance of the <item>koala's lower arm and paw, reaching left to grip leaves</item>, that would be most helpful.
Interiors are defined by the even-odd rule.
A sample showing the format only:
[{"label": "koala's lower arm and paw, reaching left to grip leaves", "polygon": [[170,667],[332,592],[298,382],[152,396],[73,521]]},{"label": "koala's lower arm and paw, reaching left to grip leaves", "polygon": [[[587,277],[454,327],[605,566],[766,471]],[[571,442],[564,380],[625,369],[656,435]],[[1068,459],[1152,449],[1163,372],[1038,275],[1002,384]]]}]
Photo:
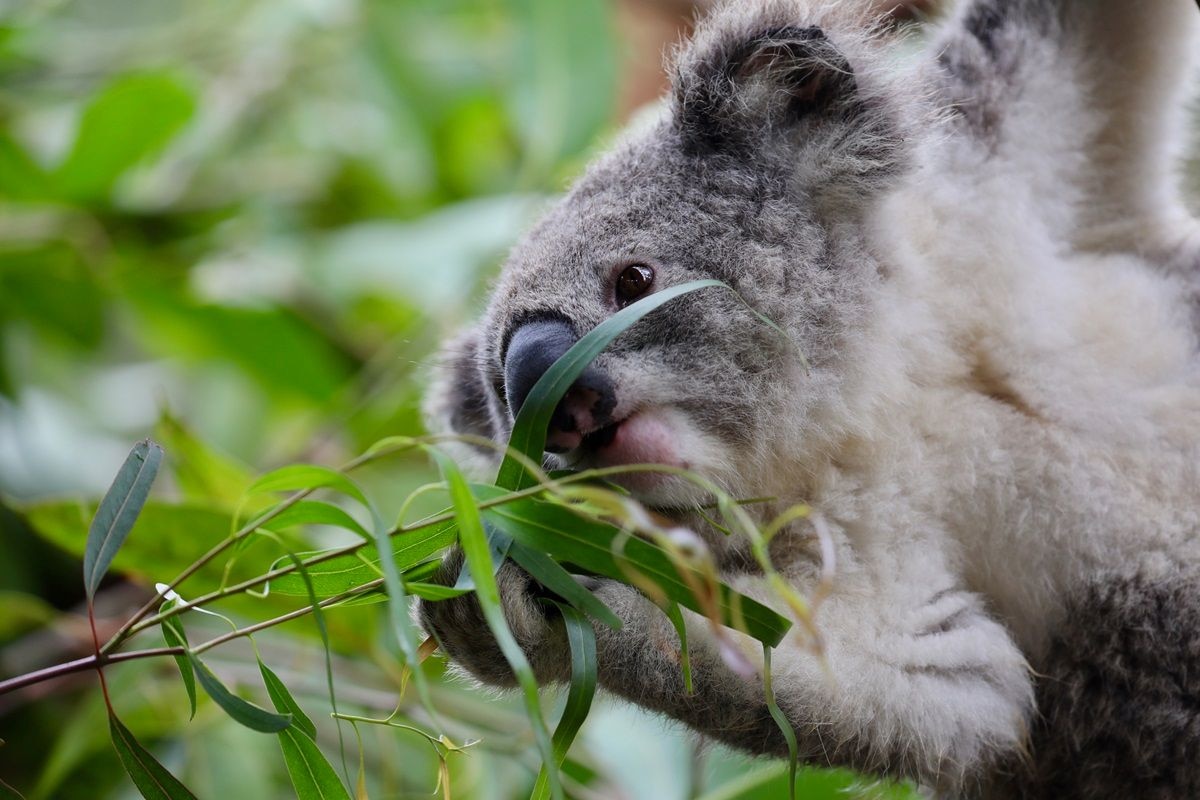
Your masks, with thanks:
[{"label": "koala's lower arm and paw, reaching left to grip leaves", "polygon": [[[929,554],[918,560],[918,549],[912,548],[907,565],[890,560],[886,569],[859,565],[840,575],[817,616],[824,663],[793,632],[774,651],[774,687],[804,760],[953,790],[1019,747],[1032,690],[1025,661],[1004,628],[947,572],[931,573]],[[449,561],[451,573],[457,561]],[[539,680],[566,680],[570,658],[562,622],[545,613],[538,589],[520,569],[505,565],[498,579],[509,625]],[[761,577],[727,579],[778,604]],[[786,756],[761,675],[744,678],[730,669],[707,620],[689,613],[689,694],[678,637],[665,614],[625,584],[596,581],[593,590],[624,621],[617,631],[595,625],[601,686],[734,747]],[[476,678],[515,684],[474,596],[422,602],[419,614],[450,657]],[[757,643],[737,636],[754,658]]]}]

